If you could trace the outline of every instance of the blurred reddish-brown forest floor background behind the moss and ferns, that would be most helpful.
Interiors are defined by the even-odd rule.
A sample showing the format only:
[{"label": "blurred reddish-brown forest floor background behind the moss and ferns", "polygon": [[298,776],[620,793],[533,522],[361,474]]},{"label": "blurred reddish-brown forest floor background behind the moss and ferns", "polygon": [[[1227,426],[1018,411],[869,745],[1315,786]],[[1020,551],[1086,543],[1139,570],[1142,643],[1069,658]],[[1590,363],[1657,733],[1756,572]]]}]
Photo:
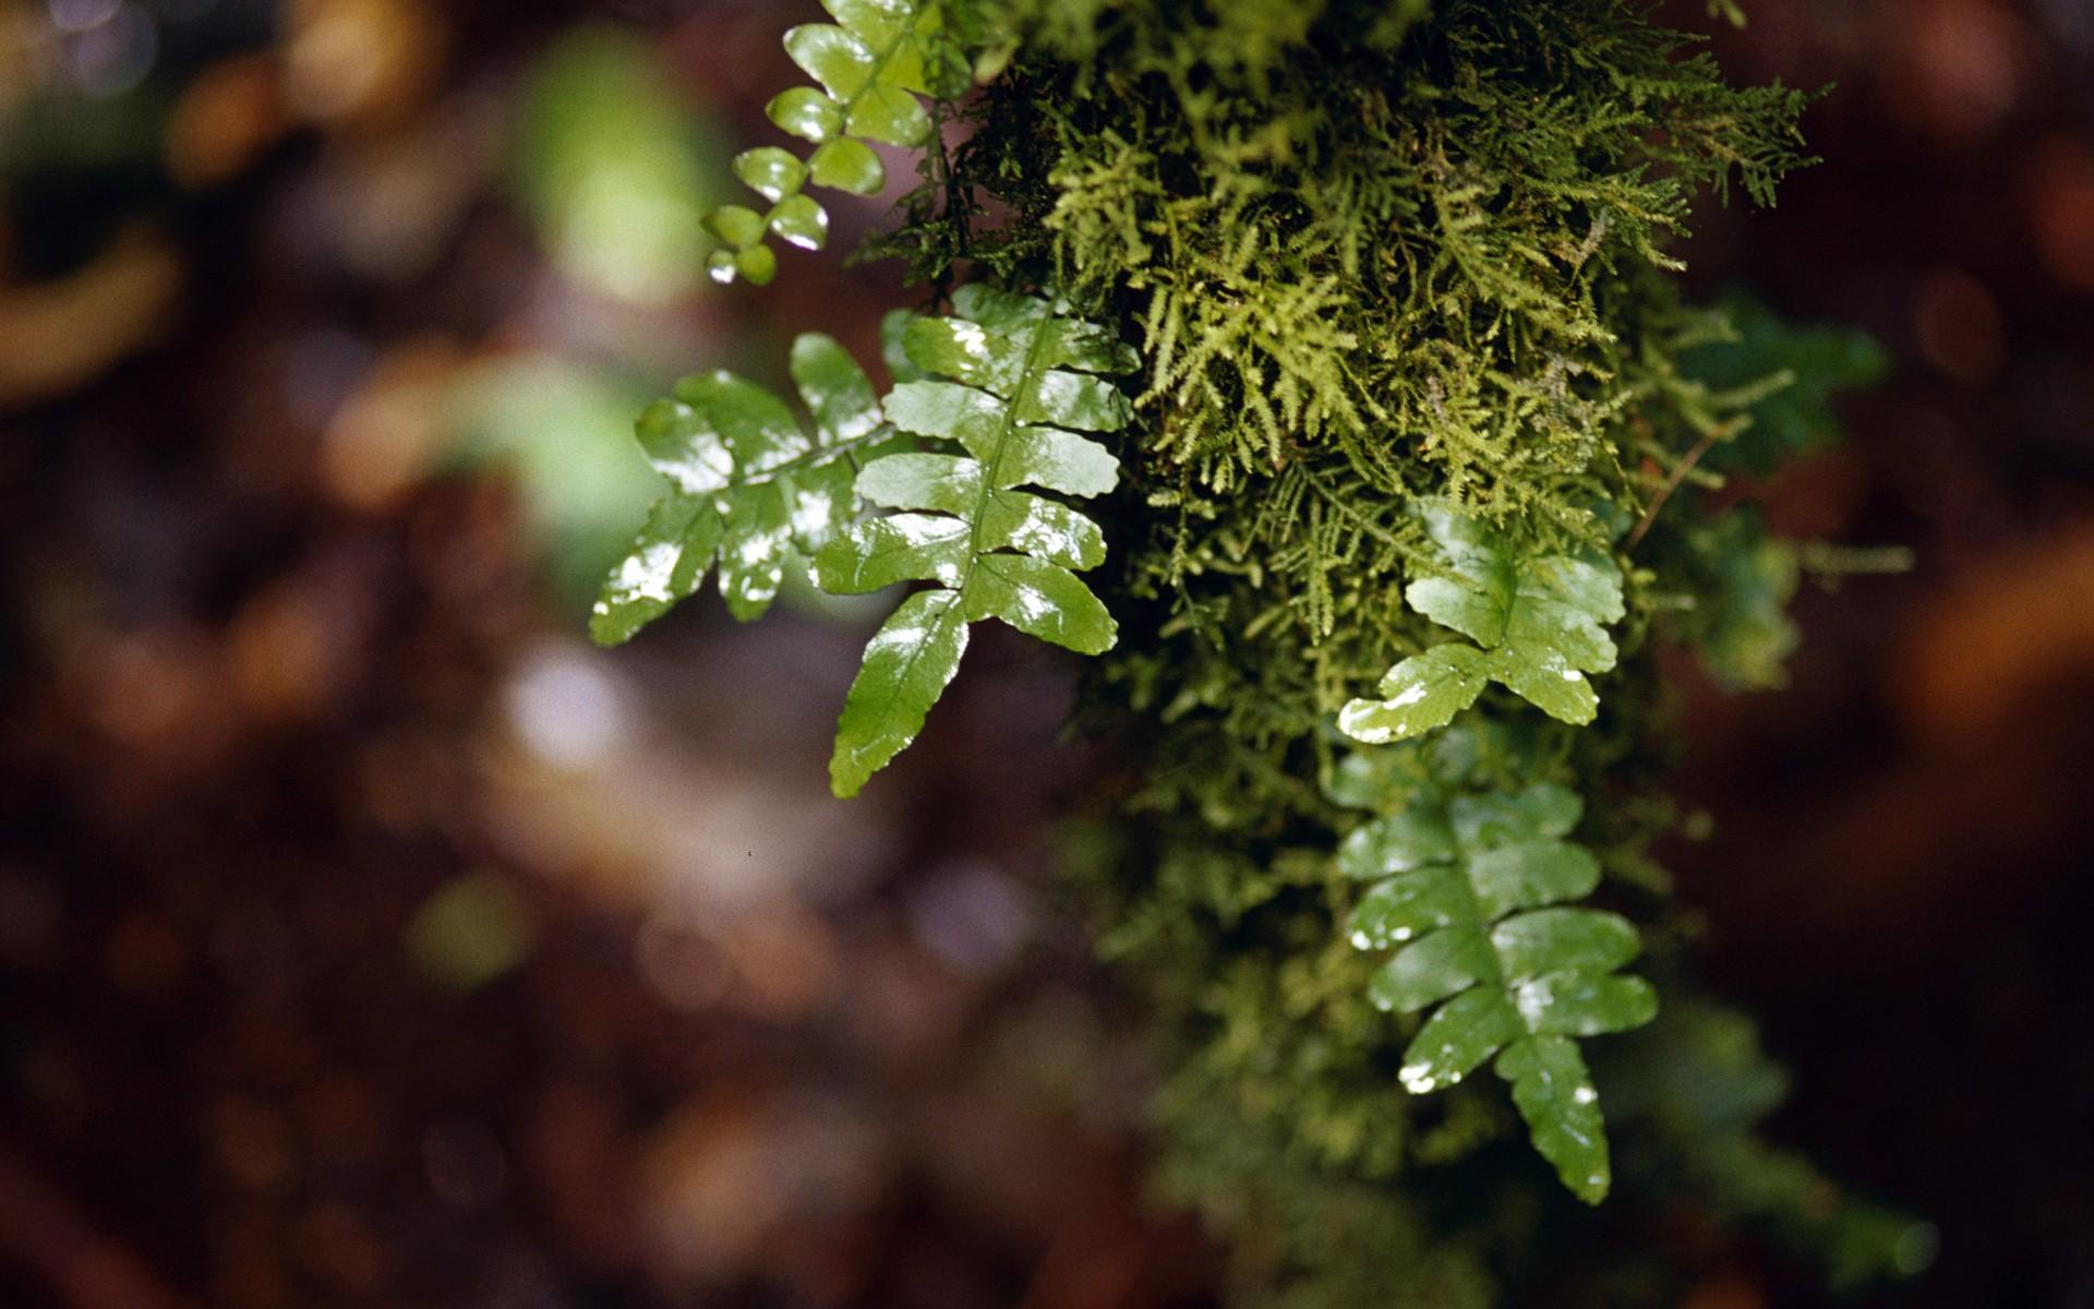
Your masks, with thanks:
[{"label": "blurred reddish-brown forest floor background behind the moss and ferns", "polygon": [[[905,297],[699,276],[810,17],[0,0],[0,1305],[1210,1303],[1049,878],[1064,668],[982,643],[838,804],[861,614],[580,639],[639,402]],[[1681,666],[1667,855],[1776,1133],[1939,1223],[1899,1303],[2094,1305],[2094,4],[1719,50],[1839,90],[1692,276],[1897,358],[1772,515],[1918,568],[1807,593],[1784,693]]]}]

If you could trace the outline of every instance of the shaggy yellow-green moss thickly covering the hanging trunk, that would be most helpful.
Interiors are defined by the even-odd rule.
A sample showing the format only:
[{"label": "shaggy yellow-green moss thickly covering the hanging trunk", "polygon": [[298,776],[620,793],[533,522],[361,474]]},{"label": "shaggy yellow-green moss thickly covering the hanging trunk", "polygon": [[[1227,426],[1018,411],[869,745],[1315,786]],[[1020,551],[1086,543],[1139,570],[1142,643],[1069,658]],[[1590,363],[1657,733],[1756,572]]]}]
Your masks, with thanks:
[{"label": "shaggy yellow-green moss thickly covering the hanging trunk", "polygon": [[[1564,1135],[1596,1123],[1589,1095],[1550,1085],[1568,1041],[1518,1043],[1518,1112],[1495,1085],[1405,1091],[1420,1016],[1374,1005],[1386,942],[1346,940],[1361,884],[1336,859],[1407,813],[1397,792],[1361,808],[1361,769],[1422,769],[1405,785],[1447,813],[1577,796],[1535,834],[1575,842],[1550,859],[1577,863],[1579,894],[1602,869],[1596,898],[1642,926],[1667,1003],[1681,989],[1684,915],[1650,859],[1675,825],[1654,649],[1780,674],[1795,555],[1705,492],[1822,442],[1828,398],[1870,360],[1841,333],[1686,306],[1677,249],[1698,197],[1769,203],[1805,163],[1807,96],[1732,86],[1629,0],[946,0],[938,31],[980,86],[932,107],[961,130],[932,134],[863,253],[905,260],[934,302],[978,281],[1045,293],[1139,356],[1120,486],[1087,501],[1110,547],[1087,578],[1118,643],[1078,723],[1122,767],[1072,884],[1171,1070],[1158,1181],[1233,1238],[1246,1301],[1663,1303],[1650,1242],[1594,1271],[1579,1240],[1679,1188],[1822,1236],[1843,1271],[1851,1248],[1903,1267],[1895,1242],[1782,1219],[1805,1204],[1801,1164],[1748,1123],[1652,1127],[1654,1093],[1612,1123],[1635,1141],[1631,1217],[1585,1215],[1520,1141],[1524,1112],[1587,1198],[1604,1190],[1585,1169],[1604,1144]],[[1424,746],[1344,739],[1342,706],[1455,641],[1434,618],[1503,685],[1476,681]],[[1556,662],[1589,687],[1552,693],[1537,679]],[[1457,764],[1447,741],[1466,741]],[[1600,919],[1619,945],[1621,917],[1577,922]],[[1516,982],[1493,972],[1493,995]],[[1564,1005],[1520,999],[1529,1030],[1648,1016],[1577,1026]],[[1600,1037],[1596,1081],[1614,1085],[1610,1043],[1663,1066],[1702,1037],[1663,1020]],[[1746,1144],[1696,1154],[1717,1135]]]}]

